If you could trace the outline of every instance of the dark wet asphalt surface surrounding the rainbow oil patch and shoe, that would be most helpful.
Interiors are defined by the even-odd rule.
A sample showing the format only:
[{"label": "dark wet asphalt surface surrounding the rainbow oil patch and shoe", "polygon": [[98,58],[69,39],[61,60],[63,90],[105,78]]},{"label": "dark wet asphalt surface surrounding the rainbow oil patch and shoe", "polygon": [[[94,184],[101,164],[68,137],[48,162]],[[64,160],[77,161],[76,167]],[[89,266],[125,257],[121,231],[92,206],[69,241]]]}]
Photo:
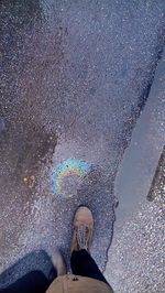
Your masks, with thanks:
[{"label": "dark wet asphalt surface surrounding the rainbow oil patch and shoe", "polygon": [[[114,178],[161,56],[164,11],[164,1],[1,1],[1,271],[34,249],[68,254],[79,204],[94,213],[105,268]],[[67,159],[91,167],[65,198],[51,178]]]}]

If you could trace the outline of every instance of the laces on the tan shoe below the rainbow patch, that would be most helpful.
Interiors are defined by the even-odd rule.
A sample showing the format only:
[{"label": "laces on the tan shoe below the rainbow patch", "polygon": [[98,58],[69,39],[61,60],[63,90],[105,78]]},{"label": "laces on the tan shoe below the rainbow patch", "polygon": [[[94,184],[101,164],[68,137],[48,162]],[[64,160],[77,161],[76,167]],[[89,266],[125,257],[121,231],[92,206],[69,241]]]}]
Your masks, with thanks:
[{"label": "laces on the tan shoe below the rainbow patch", "polygon": [[76,232],[79,249],[88,250],[88,227],[81,224]]}]

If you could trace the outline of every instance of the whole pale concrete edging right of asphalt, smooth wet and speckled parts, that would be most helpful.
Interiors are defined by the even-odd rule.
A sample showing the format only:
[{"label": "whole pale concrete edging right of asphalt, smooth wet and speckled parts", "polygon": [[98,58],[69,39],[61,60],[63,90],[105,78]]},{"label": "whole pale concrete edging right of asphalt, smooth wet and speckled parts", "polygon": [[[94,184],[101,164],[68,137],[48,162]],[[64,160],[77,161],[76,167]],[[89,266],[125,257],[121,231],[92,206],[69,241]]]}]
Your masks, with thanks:
[{"label": "whole pale concrete edging right of asphalt, smooth wet and speckled parts", "polygon": [[165,144],[164,73],[165,51],[116,180],[119,206],[105,272],[116,293],[164,292],[165,205],[148,200]]}]

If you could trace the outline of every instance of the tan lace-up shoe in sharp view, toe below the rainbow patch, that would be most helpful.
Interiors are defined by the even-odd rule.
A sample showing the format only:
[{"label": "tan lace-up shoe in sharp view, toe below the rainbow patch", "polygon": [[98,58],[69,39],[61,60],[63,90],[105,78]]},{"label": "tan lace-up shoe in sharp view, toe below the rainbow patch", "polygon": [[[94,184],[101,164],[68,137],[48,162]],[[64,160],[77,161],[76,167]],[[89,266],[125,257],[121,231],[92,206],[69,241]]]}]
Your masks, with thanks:
[{"label": "tan lace-up shoe in sharp view, toe below the rainbow patch", "polygon": [[94,218],[88,207],[79,207],[74,218],[74,232],[70,252],[86,249],[88,252],[91,247],[94,229]]}]

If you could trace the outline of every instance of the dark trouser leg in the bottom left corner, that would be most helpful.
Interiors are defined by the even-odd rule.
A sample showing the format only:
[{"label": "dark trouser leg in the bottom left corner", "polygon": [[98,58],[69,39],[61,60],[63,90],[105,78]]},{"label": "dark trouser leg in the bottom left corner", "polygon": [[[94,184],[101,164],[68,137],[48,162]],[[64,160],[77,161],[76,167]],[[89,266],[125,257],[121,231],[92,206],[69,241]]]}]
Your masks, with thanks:
[{"label": "dark trouser leg in the bottom left corner", "polygon": [[41,271],[33,271],[7,289],[0,290],[0,293],[45,293],[51,285],[52,280],[47,280]]}]

